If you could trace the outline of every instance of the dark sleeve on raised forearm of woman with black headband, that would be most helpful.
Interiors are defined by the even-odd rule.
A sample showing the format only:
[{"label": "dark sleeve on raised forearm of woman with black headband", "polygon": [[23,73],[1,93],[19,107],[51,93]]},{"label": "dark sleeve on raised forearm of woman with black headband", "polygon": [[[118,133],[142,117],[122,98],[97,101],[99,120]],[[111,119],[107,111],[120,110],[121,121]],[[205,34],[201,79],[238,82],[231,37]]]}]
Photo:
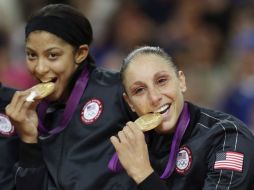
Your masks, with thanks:
[{"label": "dark sleeve on raised forearm of woman with black headband", "polygon": [[47,190],[49,175],[43,161],[40,144],[20,142],[19,162],[15,165],[17,190]]}]

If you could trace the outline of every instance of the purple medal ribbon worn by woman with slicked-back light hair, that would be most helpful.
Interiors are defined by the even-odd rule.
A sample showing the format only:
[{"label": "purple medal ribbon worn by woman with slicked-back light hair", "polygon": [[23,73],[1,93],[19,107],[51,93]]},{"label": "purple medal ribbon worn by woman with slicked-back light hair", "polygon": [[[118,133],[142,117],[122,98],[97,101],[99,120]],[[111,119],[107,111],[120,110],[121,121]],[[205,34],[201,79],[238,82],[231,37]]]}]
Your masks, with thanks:
[{"label": "purple medal ribbon worn by woman with slicked-back light hair", "polygon": [[[179,122],[177,124],[173,141],[171,143],[168,163],[165,167],[164,172],[160,176],[161,179],[168,178],[174,171],[177,152],[179,150],[181,140],[189,125],[189,122],[190,122],[190,113],[188,111],[188,105],[187,103],[184,103],[183,111],[179,117]],[[123,169],[116,153],[113,155],[113,157],[109,161],[108,168],[113,172],[119,172],[120,170]]]}]

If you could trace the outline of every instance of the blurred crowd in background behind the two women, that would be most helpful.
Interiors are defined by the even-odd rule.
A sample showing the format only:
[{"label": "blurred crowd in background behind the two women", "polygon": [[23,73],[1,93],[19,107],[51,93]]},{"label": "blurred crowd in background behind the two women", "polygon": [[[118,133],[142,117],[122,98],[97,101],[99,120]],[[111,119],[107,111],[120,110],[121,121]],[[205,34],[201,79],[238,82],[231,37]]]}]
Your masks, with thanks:
[{"label": "blurred crowd in background behind the two women", "polygon": [[231,113],[254,131],[253,0],[0,0],[3,84],[34,84],[25,67],[24,26],[49,3],[70,4],[90,19],[98,66],[119,70],[133,48],[160,46],[184,71],[187,100]]}]

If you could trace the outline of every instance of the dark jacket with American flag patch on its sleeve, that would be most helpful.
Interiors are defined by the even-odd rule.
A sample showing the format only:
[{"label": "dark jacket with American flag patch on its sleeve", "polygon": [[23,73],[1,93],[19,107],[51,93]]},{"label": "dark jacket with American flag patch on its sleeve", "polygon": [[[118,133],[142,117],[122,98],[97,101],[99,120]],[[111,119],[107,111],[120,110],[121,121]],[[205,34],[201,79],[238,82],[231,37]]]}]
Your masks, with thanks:
[{"label": "dark jacket with American flag patch on its sleeve", "polygon": [[254,137],[237,118],[188,103],[190,123],[184,133],[172,175],[159,175],[168,161],[171,135],[149,134],[155,168],[140,190],[253,190]]}]

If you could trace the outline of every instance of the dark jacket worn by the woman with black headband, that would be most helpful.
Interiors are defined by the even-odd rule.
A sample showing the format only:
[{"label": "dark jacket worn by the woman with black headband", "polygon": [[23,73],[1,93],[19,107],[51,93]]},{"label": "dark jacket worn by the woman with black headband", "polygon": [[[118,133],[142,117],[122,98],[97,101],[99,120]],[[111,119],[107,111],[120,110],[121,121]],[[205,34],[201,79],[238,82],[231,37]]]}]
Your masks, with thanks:
[{"label": "dark jacket worn by the woman with black headband", "polygon": [[[21,143],[16,168],[18,190],[130,190],[134,181],[125,171],[107,165],[114,153],[109,138],[136,117],[122,97],[119,73],[95,68],[68,126],[58,134]],[[44,125],[53,129],[65,105],[52,105]]]}]

